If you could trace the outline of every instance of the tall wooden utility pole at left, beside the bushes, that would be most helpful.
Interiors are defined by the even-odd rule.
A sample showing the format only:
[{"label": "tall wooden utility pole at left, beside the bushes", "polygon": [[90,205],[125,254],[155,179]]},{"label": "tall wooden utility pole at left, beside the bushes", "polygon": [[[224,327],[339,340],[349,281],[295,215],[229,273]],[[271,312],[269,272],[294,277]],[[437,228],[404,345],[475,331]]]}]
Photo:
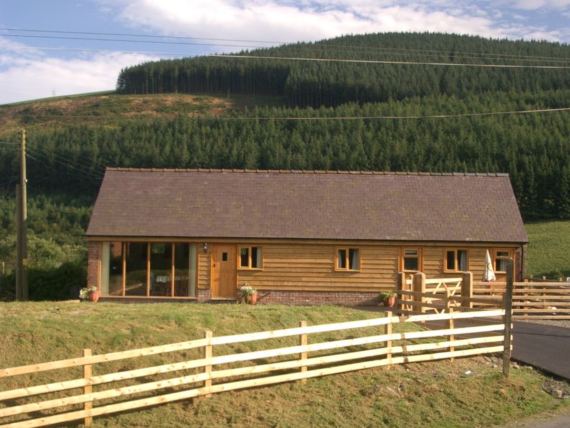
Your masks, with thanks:
[{"label": "tall wooden utility pole at left, beside the bushes", "polygon": [[21,130],[20,184],[16,186],[16,300],[28,300],[28,198],[25,177],[25,130]]}]

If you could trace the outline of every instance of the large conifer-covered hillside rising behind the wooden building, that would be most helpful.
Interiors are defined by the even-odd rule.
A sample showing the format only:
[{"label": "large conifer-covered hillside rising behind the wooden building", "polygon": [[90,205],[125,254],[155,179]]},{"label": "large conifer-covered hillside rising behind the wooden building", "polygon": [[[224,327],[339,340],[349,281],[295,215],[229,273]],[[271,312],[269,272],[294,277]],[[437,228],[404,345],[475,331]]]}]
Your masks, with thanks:
[{"label": "large conifer-covered hillside rising behind the wooden building", "polygon": [[[569,46],[558,43],[416,33],[245,53],[570,61]],[[45,269],[65,261],[83,263],[83,231],[105,167],[507,172],[525,221],[570,219],[570,111],[513,113],[569,108],[567,70],[197,58],[134,65],[118,82],[120,94],[0,105],[0,261],[8,270],[22,126],[32,263],[42,278],[54,278],[59,271]],[[535,275],[570,268],[529,267]]]}]

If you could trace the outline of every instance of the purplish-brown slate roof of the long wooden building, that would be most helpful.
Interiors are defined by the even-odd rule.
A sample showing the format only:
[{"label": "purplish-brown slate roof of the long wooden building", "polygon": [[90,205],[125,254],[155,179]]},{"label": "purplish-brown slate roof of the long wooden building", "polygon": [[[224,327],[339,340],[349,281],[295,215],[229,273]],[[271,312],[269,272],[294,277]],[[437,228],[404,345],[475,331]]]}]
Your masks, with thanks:
[{"label": "purplish-brown slate roof of the long wooden building", "polygon": [[134,168],[87,236],[528,242],[507,174]]}]

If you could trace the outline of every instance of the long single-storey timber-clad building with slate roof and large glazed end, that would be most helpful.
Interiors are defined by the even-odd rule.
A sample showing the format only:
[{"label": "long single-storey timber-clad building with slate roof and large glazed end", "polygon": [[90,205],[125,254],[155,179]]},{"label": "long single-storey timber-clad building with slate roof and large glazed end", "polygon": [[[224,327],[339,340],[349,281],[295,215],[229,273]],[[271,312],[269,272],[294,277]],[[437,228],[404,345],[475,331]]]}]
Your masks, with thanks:
[{"label": "long single-storey timber-clad building with slate roof and large glazed end", "polygon": [[[107,168],[87,229],[103,300],[372,305],[397,272],[525,275],[507,174]],[[503,278],[504,279],[504,278]]]}]

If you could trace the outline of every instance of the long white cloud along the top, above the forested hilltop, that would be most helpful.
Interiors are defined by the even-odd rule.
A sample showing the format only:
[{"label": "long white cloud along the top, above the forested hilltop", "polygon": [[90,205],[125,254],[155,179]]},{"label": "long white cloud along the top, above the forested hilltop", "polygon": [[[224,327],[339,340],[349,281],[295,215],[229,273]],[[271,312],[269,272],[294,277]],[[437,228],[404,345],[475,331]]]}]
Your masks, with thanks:
[{"label": "long white cloud along the top, above the forested hilltop", "polygon": [[[116,19],[132,28],[166,35],[315,41],[342,34],[388,31],[430,31],[477,34],[494,38],[526,38],[540,31],[558,40],[556,31],[512,26],[498,21],[492,2],[434,0],[423,3],[370,0],[100,0],[114,5]],[[500,1],[500,0],[498,0]],[[522,8],[527,0],[515,0]],[[529,0],[563,7],[570,0]],[[484,7],[485,6],[485,7]],[[218,47],[226,52],[240,48]]]}]

